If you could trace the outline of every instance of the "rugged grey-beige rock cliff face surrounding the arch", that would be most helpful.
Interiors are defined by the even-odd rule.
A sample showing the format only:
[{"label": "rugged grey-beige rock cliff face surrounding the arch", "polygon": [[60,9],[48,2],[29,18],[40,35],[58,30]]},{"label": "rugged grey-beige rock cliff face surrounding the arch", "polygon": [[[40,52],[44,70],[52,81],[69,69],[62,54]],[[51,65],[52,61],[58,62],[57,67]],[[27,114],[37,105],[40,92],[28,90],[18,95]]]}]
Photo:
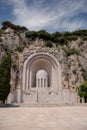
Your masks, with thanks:
[{"label": "rugged grey-beige rock cliff face surrounding the arch", "polygon": [[[87,41],[79,37],[76,41],[68,42],[63,46],[53,44],[46,47],[46,41],[36,38],[30,40],[24,33],[17,33],[7,28],[0,36],[0,61],[10,52],[13,59],[13,69],[19,69],[21,63],[35,51],[46,51],[53,54],[59,61],[62,69],[62,87],[76,91],[77,87],[87,80]],[[22,61],[21,61],[22,60]],[[20,76],[19,76],[20,77]]]}]

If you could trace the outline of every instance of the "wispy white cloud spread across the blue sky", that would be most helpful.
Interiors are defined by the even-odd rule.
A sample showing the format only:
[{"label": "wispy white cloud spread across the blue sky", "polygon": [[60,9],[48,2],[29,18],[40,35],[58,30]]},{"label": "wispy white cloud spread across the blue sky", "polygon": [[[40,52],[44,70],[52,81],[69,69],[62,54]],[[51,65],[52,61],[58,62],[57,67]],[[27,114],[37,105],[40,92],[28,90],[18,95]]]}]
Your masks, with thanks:
[{"label": "wispy white cloud spread across the blue sky", "polygon": [[[13,5],[14,23],[24,25],[30,30],[68,30],[73,31],[83,26],[83,20],[71,18],[86,12],[85,0],[55,0],[45,4],[45,0],[32,0],[31,6],[26,0],[9,0]],[[51,28],[51,29],[50,29]]]}]

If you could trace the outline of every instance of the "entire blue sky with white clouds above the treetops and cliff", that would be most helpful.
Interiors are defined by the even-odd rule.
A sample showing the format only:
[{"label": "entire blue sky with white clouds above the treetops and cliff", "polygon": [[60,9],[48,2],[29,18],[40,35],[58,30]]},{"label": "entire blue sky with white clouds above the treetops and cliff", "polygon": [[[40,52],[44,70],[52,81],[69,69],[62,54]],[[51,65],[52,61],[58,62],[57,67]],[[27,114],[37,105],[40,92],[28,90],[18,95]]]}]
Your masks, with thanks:
[{"label": "entire blue sky with white clouds above the treetops and cliff", "polygon": [[5,20],[36,31],[87,29],[87,0],[0,0],[0,24]]}]

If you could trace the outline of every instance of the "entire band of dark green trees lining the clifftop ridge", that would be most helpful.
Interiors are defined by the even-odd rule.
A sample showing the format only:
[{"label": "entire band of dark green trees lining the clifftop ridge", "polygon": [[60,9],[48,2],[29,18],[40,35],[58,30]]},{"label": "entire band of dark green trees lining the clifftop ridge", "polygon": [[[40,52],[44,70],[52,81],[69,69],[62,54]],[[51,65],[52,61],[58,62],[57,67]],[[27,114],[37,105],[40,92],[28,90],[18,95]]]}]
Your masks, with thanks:
[{"label": "entire band of dark green trees lining the clifftop ridge", "polygon": [[79,37],[82,40],[87,40],[87,30],[76,30],[74,32],[55,32],[49,33],[46,30],[40,31],[29,31],[24,26],[19,26],[11,23],[10,21],[3,21],[2,22],[2,29],[12,28],[18,32],[26,32],[26,37],[30,40],[35,40],[37,37],[43,39],[45,41],[54,42],[57,45],[65,45],[69,41],[76,41]]}]

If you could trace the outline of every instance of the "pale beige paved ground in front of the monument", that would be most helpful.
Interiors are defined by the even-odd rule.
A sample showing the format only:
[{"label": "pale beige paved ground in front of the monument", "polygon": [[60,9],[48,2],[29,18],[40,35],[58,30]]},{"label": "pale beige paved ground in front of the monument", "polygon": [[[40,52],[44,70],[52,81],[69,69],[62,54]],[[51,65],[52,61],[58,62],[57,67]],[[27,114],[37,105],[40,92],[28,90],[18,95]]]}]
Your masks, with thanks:
[{"label": "pale beige paved ground in front of the monument", "polygon": [[0,130],[87,130],[87,106],[0,108]]}]

